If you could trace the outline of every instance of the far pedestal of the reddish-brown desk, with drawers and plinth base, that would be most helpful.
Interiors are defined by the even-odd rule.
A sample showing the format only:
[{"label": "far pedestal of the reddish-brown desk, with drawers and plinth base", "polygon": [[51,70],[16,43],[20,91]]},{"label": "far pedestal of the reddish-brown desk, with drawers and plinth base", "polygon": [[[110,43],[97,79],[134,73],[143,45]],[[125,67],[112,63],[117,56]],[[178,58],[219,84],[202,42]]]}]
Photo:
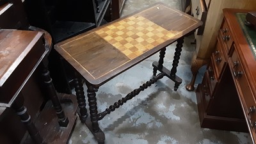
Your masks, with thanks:
[{"label": "far pedestal of the reddish-brown desk, with drawers and plinth base", "polygon": [[228,67],[229,52],[234,44],[230,30],[224,19],[215,50],[211,54],[211,62],[204,80],[196,91],[200,123],[202,127],[212,129],[248,131],[232,73]]}]

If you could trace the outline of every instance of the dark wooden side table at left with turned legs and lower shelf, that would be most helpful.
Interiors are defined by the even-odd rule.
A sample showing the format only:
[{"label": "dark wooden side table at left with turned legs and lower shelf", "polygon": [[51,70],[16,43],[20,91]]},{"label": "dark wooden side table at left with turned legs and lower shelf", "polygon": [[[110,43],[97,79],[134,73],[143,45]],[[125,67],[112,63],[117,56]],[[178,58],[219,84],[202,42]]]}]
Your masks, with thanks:
[{"label": "dark wooden side table at left with turned legs and lower shelf", "polygon": [[56,93],[47,70],[51,36],[29,28],[35,31],[0,29],[0,140],[64,143],[76,122],[76,96]]}]

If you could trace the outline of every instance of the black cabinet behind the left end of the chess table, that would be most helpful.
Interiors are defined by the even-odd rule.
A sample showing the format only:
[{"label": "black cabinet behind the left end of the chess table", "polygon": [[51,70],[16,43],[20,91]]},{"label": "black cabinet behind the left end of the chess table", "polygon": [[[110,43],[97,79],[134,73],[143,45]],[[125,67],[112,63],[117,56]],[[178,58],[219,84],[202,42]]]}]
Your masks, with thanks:
[{"label": "black cabinet behind the left end of the chess table", "polygon": [[[111,0],[26,0],[24,8],[29,24],[50,33],[53,45],[112,20]],[[54,49],[49,70],[56,90],[71,93],[74,70]]]}]

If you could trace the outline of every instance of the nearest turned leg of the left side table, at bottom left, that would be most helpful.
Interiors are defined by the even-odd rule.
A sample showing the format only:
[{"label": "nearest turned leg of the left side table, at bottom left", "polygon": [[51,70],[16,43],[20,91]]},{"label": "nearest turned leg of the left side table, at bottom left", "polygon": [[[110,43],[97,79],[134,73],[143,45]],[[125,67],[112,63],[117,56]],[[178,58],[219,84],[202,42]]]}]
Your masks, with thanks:
[{"label": "nearest turned leg of the left side table, at bottom left", "polygon": [[20,116],[21,122],[26,126],[29,136],[36,144],[45,143],[40,136],[39,131],[36,129],[35,124],[31,120],[31,116],[28,114],[27,108],[24,106],[24,97],[21,93],[17,96],[13,103],[13,109],[15,109],[17,115]]}]

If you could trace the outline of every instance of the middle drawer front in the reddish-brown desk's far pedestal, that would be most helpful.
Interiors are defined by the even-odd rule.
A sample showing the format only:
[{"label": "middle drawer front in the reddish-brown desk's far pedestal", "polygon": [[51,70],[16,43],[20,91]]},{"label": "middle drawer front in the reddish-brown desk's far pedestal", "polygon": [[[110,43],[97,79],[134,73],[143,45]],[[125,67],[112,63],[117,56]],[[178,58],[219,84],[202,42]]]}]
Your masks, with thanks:
[{"label": "middle drawer front in the reddish-brown desk's far pedestal", "polygon": [[217,44],[216,44],[216,49],[214,52],[212,52],[212,57],[211,57],[211,61],[213,63],[214,69],[216,70],[216,78],[220,79],[221,73],[226,65],[226,60],[224,57],[224,53],[223,53],[223,45],[221,44],[221,40],[218,37],[217,38]]}]

